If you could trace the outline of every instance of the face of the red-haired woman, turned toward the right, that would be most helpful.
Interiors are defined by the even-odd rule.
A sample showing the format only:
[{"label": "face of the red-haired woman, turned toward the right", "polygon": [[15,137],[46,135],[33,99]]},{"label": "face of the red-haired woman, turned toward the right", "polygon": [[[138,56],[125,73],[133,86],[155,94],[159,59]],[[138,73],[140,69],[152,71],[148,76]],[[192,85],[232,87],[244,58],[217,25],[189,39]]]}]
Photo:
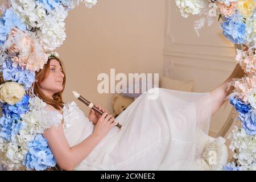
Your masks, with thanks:
[{"label": "face of the red-haired woman, turned toward the right", "polygon": [[49,63],[49,73],[44,81],[39,83],[39,87],[46,96],[53,96],[53,94],[63,90],[63,77],[59,61],[51,59]]}]

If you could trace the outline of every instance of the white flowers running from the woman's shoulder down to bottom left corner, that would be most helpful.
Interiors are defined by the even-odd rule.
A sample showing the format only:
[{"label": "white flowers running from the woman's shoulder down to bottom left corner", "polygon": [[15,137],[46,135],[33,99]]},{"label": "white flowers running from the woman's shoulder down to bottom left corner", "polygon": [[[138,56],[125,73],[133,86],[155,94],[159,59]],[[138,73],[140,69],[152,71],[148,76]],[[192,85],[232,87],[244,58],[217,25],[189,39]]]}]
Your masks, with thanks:
[{"label": "white flowers running from the woman's shoulder down to bottom left corner", "polygon": [[63,119],[57,111],[49,111],[46,103],[38,97],[30,98],[29,103],[28,112],[21,116],[22,129],[19,134],[13,135],[9,143],[0,138],[0,159],[9,169],[25,169],[23,161],[28,152],[28,142],[52,125],[59,125]]}]

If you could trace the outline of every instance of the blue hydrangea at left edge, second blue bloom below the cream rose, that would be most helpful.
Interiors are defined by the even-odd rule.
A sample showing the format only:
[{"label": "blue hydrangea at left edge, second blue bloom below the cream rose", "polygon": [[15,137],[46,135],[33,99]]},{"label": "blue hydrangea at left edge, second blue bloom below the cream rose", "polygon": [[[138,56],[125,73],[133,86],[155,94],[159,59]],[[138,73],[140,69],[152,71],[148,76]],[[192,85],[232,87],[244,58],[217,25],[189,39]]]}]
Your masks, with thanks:
[{"label": "blue hydrangea at left edge, second blue bloom below the cream rose", "polygon": [[5,115],[0,119],[0,137],[10,141],[11,137],[18,134],[22,127],[22,123],[18,115]]}]

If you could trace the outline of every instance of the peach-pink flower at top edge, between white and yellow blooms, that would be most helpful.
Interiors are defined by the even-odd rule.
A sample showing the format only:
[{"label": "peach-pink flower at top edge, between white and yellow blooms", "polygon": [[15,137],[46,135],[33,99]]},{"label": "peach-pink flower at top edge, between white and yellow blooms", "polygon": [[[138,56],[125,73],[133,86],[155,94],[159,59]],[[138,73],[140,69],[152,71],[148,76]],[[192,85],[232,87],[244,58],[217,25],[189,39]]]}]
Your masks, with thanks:
[{"label": "peach-pink flower at top edge, between white and yellow blooms", "polygon": [[225,5],[225,3],[217,1],[217,8],[220,14],[229,17],[236,13],[237,10],[237,2],[230,2],[230,5]]}]

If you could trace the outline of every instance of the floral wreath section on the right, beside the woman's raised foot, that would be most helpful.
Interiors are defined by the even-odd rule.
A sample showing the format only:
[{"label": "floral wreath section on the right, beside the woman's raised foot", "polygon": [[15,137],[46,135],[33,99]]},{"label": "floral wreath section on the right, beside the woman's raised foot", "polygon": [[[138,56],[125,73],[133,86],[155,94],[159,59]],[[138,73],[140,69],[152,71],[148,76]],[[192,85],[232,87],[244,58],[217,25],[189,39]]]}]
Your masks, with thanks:
[{"label": "floral wreath section on the right, beside the woman's raised foot", "polygon": [[[229,148],[234,152],[234,162],[223,167],[226,171],[256,170],[256,7],[254,0],[175,0],[181,15],[200,15],[194,29],[199,30],[213,24],[214,17],[222,19],[223,34],[237,48],[237,63],[246,76],[234,79],[234,86],[228,96],[237,113],[234,119],[241,121],[242,127],[235,126],[229,135]],[[238,49],[238,47],[240,47]]]}]

